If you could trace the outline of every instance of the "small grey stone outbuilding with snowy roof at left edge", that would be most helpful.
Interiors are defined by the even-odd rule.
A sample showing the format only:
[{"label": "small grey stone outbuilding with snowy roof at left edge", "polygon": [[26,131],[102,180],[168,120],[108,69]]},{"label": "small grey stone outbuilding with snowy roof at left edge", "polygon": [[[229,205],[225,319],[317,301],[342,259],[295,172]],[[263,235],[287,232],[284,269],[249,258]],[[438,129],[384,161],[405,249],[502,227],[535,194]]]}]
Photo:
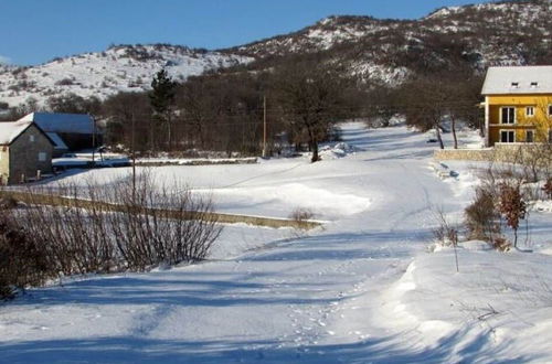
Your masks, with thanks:
[{"label": "small grey stone outbuilding with snowy roof at left edge", "polygon": [[0,122],[0,184],[22,183],[51,173],[54,146],[32,121]]}]

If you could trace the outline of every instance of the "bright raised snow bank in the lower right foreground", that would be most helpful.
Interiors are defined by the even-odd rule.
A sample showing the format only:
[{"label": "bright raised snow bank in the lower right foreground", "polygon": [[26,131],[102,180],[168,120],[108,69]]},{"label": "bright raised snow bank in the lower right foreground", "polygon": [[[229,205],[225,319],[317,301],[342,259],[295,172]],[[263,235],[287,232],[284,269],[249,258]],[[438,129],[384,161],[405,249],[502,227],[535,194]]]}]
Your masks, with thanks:
[{"label": "bright raised snow bank in the lower right foreground", "polygon": [[450,362],[551,361],[549,258],[465,247],[459,272],[452,249],[416,258],[382,296],[382,320],[439,343]]}]

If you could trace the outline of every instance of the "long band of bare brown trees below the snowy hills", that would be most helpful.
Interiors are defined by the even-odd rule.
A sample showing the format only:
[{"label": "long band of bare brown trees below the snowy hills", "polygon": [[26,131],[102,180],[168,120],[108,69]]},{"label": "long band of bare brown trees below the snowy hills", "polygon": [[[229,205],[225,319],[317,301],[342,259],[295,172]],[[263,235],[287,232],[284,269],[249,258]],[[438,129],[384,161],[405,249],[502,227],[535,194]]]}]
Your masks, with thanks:
[{"label": "long band of bare brown trees below the snowy hills", "polygon": [[[370,83],[337,61],[289,58],[267,71],[230,69],[193,76],[183,83],[160,69],[149,93],[119,93],[104,101],[76,95],[51,97],[46,109],[92,114],[104,126],[104,142],[123,151],[174,156],[217,151],[258,156],[264,122],[268,154],[284,148],[312,151],[337,138],[336,124],[362,118],[386,126],[397,115],[420,130],[435,129],[442,148],[444,120],[481,128],[482,78],[471,69],[416,74],[399,86]],[[36,110],[36,103],[11,117]],[[447,124],[448,125],[448,124]],[[456,138],[454,138],[456,140]]]}]

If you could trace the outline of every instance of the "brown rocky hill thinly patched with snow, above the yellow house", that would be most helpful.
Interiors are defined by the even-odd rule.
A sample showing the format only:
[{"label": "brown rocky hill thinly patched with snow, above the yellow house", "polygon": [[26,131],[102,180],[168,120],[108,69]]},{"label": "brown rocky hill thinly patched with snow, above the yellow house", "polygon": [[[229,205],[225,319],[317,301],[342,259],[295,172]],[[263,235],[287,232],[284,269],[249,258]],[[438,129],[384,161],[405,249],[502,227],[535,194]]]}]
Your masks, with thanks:
[{"label": "brown rocky hill thinly patched with snow, above the yellow house", "polygon": [[329,17],[229,52],[268,60],[321,52],[364,78],[400,83],[444,66],[550,63],[551,15],[550,0],[526,0],[443,8],[412,21]]}]

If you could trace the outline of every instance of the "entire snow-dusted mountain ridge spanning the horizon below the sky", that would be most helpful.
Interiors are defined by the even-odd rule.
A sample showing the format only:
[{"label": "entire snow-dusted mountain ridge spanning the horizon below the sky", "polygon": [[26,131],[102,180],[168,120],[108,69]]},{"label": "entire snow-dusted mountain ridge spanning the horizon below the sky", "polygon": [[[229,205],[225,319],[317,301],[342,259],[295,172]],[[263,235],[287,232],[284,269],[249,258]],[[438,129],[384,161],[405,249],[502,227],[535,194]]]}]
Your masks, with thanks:
[{"label": "entire snow-dusted mountain ridge spanning the horizon below the sky", "polygon": [[[161,67],[177,81],[237,65],[265,69],[297,55],[337,61],[351,74],[383,84],[457,66],[550,64],[552,2],[502,1],[438,9],[418,20],[329,17],[297,32],[219,51],[119,45],[33,67],[0,65],[0,106],[30,97],[43,104],[67,93],[105,98],[147,90]],[[238,68],[236,68],[238,69]]]}]

